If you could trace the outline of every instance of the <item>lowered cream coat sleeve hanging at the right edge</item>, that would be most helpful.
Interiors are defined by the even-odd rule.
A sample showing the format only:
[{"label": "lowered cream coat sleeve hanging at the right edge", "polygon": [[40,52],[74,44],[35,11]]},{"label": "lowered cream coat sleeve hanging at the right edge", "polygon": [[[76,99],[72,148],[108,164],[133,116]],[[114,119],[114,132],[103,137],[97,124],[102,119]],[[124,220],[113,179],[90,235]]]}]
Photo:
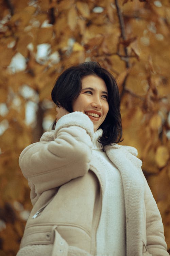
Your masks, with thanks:
[{"label": "lowered cream coat sleeve hanging at the right edge", "polygon": [[147,250],[152,256],[169,256],[164,237],[164,226],[162,223],[162,218],[146,179],[145,207]]}]

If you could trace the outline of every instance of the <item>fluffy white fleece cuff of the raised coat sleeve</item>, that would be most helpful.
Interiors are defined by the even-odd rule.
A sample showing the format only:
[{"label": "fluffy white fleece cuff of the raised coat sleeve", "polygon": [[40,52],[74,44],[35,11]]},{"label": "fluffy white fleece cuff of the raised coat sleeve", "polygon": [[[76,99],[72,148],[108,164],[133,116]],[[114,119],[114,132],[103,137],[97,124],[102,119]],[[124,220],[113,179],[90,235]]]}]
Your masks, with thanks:
[{"label": "fluffy white fleece cuff of the raised coat sleeve", "polygon": [[54,137],[56,137],[57,132],[61,128],[66,128],[69,126],[79,126],[83,129],[85,129],[86,132],[89,134],[91,140],[93,141],[94,125],[91,122],[90,118],[83,112],[75,111],[75,112],[72,112],[72,113],[62,116],[56,123]]}]

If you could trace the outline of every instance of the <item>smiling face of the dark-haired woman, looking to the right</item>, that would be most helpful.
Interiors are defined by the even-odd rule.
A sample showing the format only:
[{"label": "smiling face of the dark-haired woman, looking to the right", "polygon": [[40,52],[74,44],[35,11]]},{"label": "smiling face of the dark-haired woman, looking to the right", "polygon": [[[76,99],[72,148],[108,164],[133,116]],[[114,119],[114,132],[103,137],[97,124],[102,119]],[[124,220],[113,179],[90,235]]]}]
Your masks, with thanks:
[{"label": "smiling face of the dark-haired woman, looking to the right", "polygon": [[94,131],[104,122],[108,113],[108,91],[103,79],[95,75],[82,78],[82,90],[72,109],[86,114],[94,124]]}]

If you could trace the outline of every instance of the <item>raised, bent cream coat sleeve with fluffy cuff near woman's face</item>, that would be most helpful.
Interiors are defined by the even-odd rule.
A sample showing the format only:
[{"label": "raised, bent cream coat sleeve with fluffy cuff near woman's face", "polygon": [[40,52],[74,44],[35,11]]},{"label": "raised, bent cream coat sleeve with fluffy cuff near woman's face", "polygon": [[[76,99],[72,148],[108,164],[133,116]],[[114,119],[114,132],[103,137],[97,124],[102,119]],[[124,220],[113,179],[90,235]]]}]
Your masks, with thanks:
[{"label": "raised, bent cream coat sleeve with fluffy cuff near woman's face", "polygon": [[19,157],[20,168],[31,189],[41,194],[85,175],[91,160],[93,136],[93,124],[82,112],[61,117],[52,141],[31,144]]}]

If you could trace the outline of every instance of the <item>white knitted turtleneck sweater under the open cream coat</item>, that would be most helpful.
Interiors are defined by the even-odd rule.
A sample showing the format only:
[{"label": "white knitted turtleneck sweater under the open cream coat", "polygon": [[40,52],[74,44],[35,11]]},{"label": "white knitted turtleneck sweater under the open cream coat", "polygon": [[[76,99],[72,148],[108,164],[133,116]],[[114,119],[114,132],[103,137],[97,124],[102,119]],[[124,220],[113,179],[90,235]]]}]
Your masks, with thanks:
[{"label": "white knitted turtleneck sweater under the open cream coat", "polygon": [[103,165],[105,184],[102,212],[97,230],[97,256],[125,256],[125,208],[121,175],[98,142],[102,129],[95,132],[92,155]]}]

